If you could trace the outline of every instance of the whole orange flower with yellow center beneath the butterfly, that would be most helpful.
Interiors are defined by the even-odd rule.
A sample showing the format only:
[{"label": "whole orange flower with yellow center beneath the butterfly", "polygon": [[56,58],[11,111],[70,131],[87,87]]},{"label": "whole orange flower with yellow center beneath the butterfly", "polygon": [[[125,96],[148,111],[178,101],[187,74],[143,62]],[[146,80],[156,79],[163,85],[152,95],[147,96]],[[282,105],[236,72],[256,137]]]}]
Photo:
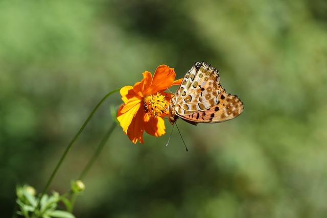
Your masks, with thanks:
[{"label": "whole orange flower with yellow center beneath the butterfly", "polygon": [[124,86],[120,93],[124,105],[117,114],[125,134],[136,143],[144,143],[144,130],[153,136],[165,134],[165,122],[162,116],[167,116],[172,94],[164,92],[172,85],[179,85],[182,79],[175,79],[175,71],[167,65],[160,65],[154,72],[143,73],[143,80],[134,86]]}]

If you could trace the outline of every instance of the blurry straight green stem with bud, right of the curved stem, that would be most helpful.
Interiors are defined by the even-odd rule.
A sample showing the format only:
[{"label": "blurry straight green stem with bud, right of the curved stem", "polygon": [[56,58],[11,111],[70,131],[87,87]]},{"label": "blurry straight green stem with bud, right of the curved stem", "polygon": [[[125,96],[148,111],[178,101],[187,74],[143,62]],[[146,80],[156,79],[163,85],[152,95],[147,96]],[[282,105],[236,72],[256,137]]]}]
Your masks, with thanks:
[{"label": "blurry straight green stem with bud, right of the curved stem", "polygon": [[[109,136],[111,135],[111,133],[113,132],[113,130],[115,129],[117,125],[115,123],[113,123],[110,127],[110,129],[108,130],[108,132],[105,134],[105,136],[102,138],[99,147],[97,149],[97,151],[94,153],[94,155],[91,157],[91,159],[88,161],[87,165],[85,166],[85,168],[83,169],[83,172],[81,173],[81,175],[79,176],[78,180],[84,180],[86,174],[89,172],[91,166],[94,164],[94,162],[96,161],[96,159],[99,157],[102,149],[104,148]],[[76,193],[73,193],[72,198],[71,198],[71,208],[68,210],[68,212],[73,212],[73,208],[74,208],[74,204],[76,202],[76,198],[77,195]]]}]

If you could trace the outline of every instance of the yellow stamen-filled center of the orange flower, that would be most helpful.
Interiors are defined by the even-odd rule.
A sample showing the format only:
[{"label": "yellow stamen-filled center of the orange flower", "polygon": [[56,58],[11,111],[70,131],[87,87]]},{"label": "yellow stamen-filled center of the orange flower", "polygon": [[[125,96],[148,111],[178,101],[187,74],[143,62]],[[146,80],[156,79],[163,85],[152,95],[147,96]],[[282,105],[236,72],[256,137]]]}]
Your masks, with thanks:
[{"label": "yellow stamen-filled center of the orange flower", "polygon": [[150,94],[143,98],[144,112],[152,117],[161,116],[167,113],[169,103],[166,101],[165,96],[157,92],[156,95]]}]

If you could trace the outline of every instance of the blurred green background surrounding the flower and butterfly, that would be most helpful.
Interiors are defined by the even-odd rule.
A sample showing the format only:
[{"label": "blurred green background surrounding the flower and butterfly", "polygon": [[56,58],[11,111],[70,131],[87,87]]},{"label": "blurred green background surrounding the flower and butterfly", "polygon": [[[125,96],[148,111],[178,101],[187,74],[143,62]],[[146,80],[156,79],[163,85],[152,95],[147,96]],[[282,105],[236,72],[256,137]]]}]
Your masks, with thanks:
[{"label": "blurred green background surrounding the flower and butterfly", "polygon": [[[121,127],[84,180],[77,217],[326,217],[327,2],[0,1],[0,211],[42,191],[109,91],[196,61],[244,103],[238,118],[178,120],[145,144]],[[50,189],[64,193],[110,127],[112,95]]]}]

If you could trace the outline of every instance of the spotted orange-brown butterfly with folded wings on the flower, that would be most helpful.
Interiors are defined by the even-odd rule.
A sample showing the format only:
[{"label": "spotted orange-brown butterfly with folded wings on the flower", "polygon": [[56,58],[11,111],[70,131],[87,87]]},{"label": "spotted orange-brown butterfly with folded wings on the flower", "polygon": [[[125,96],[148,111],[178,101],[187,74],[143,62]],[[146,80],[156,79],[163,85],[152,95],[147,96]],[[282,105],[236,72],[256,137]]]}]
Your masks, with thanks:
[{"label": "spotted orange-brown butterfly with folded wings on the flower", "polygon": [[216,68],[195,62],[170,100],[168,119],[172,125],[178,117],[193,125],[219,123],[237,117],[243,108],[236,95],[221,87]]}]

